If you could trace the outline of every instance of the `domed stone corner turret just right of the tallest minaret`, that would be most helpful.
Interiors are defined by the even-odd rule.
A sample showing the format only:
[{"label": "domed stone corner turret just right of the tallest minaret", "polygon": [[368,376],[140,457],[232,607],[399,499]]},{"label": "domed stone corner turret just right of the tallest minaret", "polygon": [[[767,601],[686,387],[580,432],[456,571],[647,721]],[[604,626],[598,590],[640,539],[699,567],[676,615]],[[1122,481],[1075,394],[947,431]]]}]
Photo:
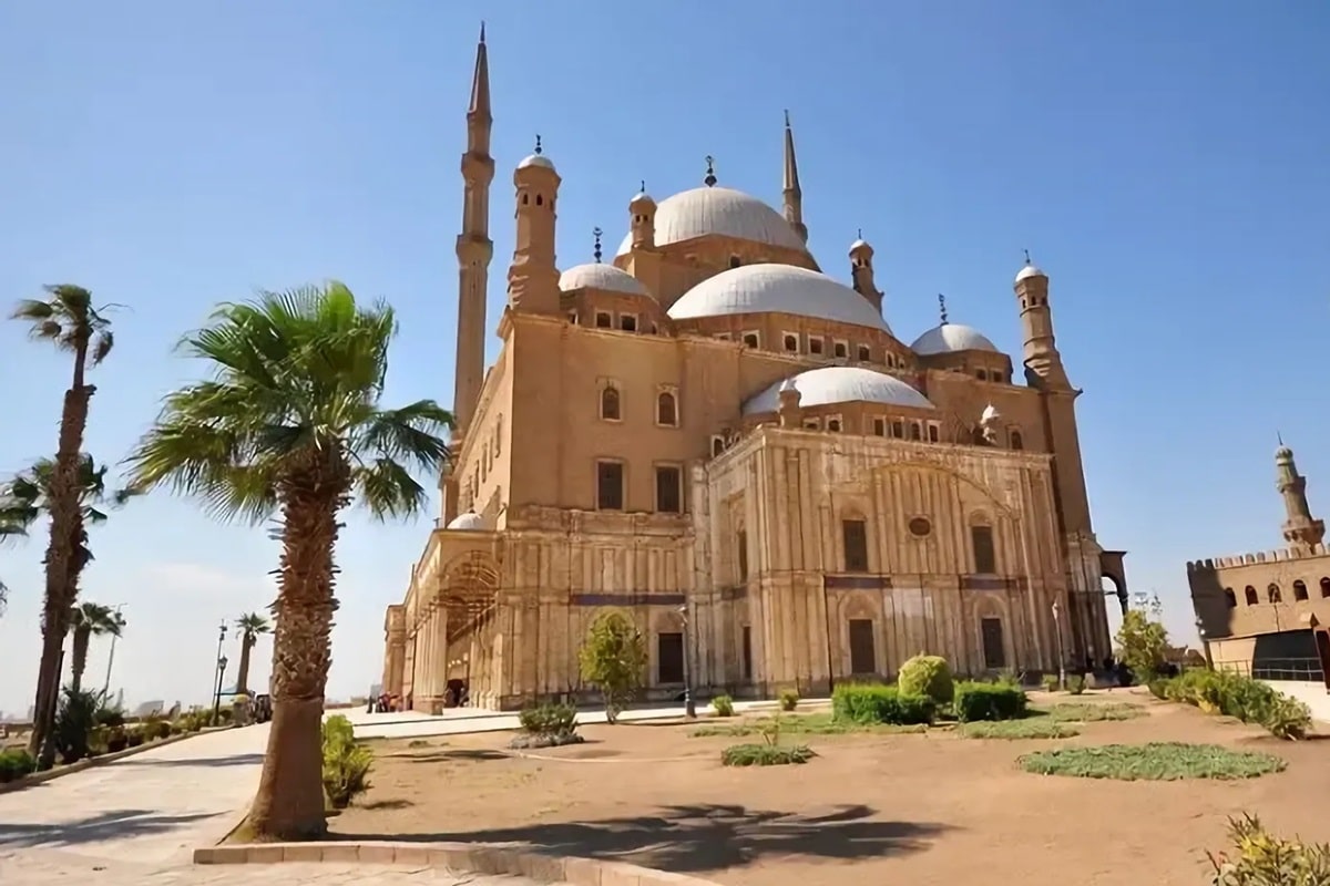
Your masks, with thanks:
[{"label": "domed stone corner turret just right of the tallest minaret", "polygon": [[559,171],[536,135],[533,154],[517,163],[517,231],[508,266],[508,307],[525,313],[559,313],[559,268],[555,267],[555,203]]}]

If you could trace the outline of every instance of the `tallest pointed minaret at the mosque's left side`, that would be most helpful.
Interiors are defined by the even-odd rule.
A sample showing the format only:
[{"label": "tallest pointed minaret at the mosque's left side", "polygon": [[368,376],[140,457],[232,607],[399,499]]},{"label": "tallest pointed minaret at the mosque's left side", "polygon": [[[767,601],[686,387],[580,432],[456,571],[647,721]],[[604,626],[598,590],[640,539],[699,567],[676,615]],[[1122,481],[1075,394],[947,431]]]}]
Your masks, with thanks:
[{"label": "tallest pointed minaret at the mosque's left side", "polygon": [[476,72],[467,108],[467,153],[462,155],[466,193],[462,202],[462,234],[458,235],[458,365],[454,372],[452,413],[458,438],[467,432],[480,385],[485,379],[485,291],[489,284],[489,182],[495,161],[489,155],[489,56],[485,27],[480,25]]}]

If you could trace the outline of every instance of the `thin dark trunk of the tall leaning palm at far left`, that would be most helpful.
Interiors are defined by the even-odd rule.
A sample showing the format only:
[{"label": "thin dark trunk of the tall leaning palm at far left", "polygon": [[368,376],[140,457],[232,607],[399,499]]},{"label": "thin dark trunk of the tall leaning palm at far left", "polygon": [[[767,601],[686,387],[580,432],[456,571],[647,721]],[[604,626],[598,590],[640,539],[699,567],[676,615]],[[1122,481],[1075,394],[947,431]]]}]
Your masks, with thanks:
[{"label": "thin dark trunk of the tall leaning palm at far left", "polygon": [[88,344],[80,343],[74,351],[73,385],[65,392],[60,414],[60,442],[56,465],[51,477],[51,543],[47,547],[47,599],[41,634],[41,668],[37,675],[37,699],[33,712],[31,753],[44,768],[56,758],[52,735],[60,692],[60,658],[68,630],[69,607],[73,604],[69,584],[70,565],[77,539],[81,537],[81,510],[78,507],[78,452],[82,449],[84,428],[88,424],[88,402],[93,388],[84,384],[84,361]]}]

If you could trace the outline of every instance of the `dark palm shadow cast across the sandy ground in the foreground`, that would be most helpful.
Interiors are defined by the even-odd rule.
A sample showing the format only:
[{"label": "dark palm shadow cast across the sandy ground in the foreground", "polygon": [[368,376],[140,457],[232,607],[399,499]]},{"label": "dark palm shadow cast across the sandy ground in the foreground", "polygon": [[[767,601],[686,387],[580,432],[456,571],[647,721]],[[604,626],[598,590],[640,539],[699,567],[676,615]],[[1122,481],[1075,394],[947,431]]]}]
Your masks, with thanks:
[{"label": "dark palm shadow cast across the sandy ground in the foreground", "polygon": [[822,816],[745,806],[665,806],[658,816],[436,834],[332,834],[334,840],[520,842],[556,855],[613,858],[678,873],[742,867],[763,857],[853,859],[923,851],[951,828],[870,821],[875,809]]}]

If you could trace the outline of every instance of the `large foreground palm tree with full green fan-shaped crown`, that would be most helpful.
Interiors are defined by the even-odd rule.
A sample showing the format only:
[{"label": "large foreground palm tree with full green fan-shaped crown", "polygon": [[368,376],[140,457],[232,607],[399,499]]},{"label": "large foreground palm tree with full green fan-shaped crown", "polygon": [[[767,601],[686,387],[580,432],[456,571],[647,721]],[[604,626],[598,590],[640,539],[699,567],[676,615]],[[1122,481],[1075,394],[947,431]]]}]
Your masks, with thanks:
[{"label": "large foreground palm tree with full green fan-shaped crown", "polygon": [[319,728],[336,611],[339,515],[359,501],[379,519],[419,513],[411,470],[448,458],[452,416],[432,400],[379,405],[396,317],[342,283],[222,306],[185,337],[210,381],[166,397],[130,454],[136,487],[169,485],[229,518],[279,515],[273,604],[273,725],[249,826],[261,838],[326,833]]}]

